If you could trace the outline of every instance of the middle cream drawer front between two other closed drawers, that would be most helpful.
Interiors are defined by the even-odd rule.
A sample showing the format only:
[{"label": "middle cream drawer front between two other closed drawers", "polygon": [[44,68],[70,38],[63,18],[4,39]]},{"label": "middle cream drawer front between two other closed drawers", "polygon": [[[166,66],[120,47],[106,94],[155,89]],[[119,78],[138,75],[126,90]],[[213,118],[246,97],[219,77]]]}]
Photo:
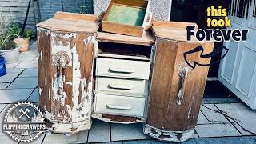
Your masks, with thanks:
[{"label": "middle cream drawer front between two other closed drawers", "polygon": [[147,94],[147,82],[146,80],[97,77],[96,91],[133,93],[143,96]]}]

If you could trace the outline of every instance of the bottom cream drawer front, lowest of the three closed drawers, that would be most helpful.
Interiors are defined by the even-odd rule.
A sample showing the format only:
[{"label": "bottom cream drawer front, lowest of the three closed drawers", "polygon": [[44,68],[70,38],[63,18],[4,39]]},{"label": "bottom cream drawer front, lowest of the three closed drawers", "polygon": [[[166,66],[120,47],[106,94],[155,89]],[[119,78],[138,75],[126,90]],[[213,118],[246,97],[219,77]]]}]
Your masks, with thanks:
[{"label": "bottom cream drawer front, lowest of the three closed drawers", "polygon": [[142,117],[145,98],[95,94],[95,113]]}]

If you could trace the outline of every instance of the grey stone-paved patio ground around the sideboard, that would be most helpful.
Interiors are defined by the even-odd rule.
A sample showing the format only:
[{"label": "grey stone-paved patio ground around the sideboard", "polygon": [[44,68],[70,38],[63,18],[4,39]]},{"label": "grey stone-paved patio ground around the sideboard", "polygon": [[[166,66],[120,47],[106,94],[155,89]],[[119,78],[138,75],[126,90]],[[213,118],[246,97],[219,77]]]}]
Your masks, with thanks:
[{"label": "grey stone-paved patio ground around the sideboard", "polygon": [[[0,119],[12,103],[38,103],[37,45],[20,54],[19,62],[7,65],[7,74],[0,77]],[[250,110],[237,98],[204,98],[194,139],[185,143],[256,143],[256,111]],[[211,109],[211,110],[210,110]],[[222,111],[222,114],[215,112]],[[230,118],[231,117],[231,118]],[[234,122],[236,121],[236,122]],[[250,132],[246,131],[249,130]],[[0,142],[17,143],[2,132]],[[158,143],[142,134],[142,124],[110,124],[94,120],[91,130],[73,134],[42,134],[32,143]]]}]

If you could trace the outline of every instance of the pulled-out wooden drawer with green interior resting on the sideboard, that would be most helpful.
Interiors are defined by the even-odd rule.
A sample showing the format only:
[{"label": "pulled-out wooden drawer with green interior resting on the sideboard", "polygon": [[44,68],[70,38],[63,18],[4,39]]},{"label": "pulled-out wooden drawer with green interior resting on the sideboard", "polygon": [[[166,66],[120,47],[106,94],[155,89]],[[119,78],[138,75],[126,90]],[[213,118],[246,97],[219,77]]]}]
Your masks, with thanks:
[{"label": "pulled-out wooden drawer with green interior resting on the sideboard", "polygon": [[150,25],[150,2],[145,0],[111,0],[102,19],[102,31],[142,37]]}]

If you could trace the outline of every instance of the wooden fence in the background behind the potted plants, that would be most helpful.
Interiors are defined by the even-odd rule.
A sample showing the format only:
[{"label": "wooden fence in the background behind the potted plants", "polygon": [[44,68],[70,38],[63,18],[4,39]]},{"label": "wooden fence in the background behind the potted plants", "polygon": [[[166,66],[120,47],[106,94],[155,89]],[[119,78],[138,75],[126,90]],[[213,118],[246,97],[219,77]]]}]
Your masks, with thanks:
[{"label": "wooden fence in the background behind the potted plants", "polygon": [[[29,0],[0,0],[0,32],[11,20],[23,23],[28,4]],[[93,9],[93,0],[31,0],[26,28],[35,30],[36,23],[51,18],[56,11],[84,12],[85,6]]]}]

